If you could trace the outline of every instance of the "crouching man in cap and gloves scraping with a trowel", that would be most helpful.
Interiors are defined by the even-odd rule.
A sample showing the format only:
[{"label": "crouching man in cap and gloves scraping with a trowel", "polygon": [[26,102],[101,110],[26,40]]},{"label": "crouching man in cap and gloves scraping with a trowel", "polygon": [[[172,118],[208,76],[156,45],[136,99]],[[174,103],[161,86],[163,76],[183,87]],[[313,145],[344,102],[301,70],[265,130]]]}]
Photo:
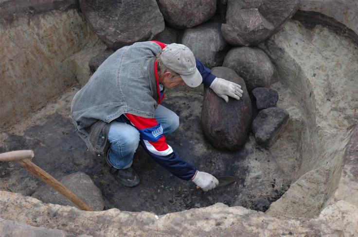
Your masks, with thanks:
[{"label": "crouching man in cap and gloves scraping with a trowel", "polygon": [[218,185],[217,179],[198,171],[166,143],[164,135],[178,128],[179,117],[161,105],[164,88],[201,83],[226,102],[228,96],[242,96],[240,85],[211,74],[184,45],[135,43],[114,52],[95,71],[74,96],[71,117],[90,152],[105,156],[110,173],[124,186],[139,184],[131,165],[140,143],[163,168],[208,191]]}]

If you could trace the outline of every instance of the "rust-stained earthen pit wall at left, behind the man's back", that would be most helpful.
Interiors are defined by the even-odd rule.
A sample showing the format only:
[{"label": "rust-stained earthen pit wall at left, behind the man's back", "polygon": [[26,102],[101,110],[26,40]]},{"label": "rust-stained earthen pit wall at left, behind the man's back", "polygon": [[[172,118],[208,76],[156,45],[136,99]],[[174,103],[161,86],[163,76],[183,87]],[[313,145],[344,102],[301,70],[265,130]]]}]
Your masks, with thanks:
[{"label": "rust-stained earthen pit wall at left, behind the man's back", "polygon": [[[4,14],[0,23],[2,129],[43,107],[82,77],[88,79],[88,61],[105,49],[76,9],[43,12],[51,9],[49,4],[49,8],[29,15],[26,7],[16,7],[16,2],[19,1],[12,1],[13,8],[7,9],[16,18]],[[3,16],[4,8],[1,7]],[[16,14],[21,9],[22,14]],[[6,16],[7,21],[4,20]],[[87,70],[82,70],[83,67]],[[86,75],[83,76],[82,71]]]}]

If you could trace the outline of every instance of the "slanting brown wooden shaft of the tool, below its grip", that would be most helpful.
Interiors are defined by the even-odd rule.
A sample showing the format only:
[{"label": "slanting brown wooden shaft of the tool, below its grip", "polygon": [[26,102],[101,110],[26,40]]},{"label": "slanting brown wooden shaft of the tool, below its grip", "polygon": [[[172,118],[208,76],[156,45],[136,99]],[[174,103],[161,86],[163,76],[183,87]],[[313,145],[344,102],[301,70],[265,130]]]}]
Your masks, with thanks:
[{"label": "slanting brown wooden shaft of the tool, below its grip", "polygon": [[59,193],[61,193],[66,198],[68,198],[73,204],[77,205],[81,210],[93,211],[92,208],[90,208],[85,202],[83,202],[81,199],[79,199],[67,187],[63,186],[63,184],[58,182],[54,177],[52,177],[50,174],[48,174],[45,170],[43,170],[43,169],[39,168],[38,166],[36,166],[30,160],[28,160],[28,159],[19,160],[18,163],[21,166],[23,166],[25,169],[27,169],[30,172],[32,172],[38,178],[43,180],[46,184],[52,186]]}]

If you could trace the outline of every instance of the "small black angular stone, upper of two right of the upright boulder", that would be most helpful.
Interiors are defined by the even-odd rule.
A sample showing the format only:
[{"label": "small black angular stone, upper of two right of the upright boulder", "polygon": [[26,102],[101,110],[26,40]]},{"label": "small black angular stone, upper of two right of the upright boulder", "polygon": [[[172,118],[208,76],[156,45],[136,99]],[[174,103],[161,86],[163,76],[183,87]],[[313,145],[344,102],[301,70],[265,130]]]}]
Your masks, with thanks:
[{"label": "small black angular stone, upper of two right of the upright boulder", "polygon": [[274,107],[278,101],[278,92],[274,89],[257,87],[252,90],[252,94],[256,98],[256,106],[258,109]]}]

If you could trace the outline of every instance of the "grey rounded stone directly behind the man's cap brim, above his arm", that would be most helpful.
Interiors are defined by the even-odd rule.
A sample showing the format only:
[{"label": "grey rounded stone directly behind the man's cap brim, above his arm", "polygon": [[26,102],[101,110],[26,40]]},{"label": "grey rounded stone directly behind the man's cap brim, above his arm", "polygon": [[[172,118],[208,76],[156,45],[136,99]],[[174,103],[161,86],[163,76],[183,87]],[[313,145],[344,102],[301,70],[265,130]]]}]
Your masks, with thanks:
[{"label": "grey rounded stone directly behind the man's cap brim, above his arm", "polygon": [[221,23],[207,22],[191,29],[186,29],[182,44],[188,46],[206,67],[222,66],[224,57],[230,49],[221,33]]}]

